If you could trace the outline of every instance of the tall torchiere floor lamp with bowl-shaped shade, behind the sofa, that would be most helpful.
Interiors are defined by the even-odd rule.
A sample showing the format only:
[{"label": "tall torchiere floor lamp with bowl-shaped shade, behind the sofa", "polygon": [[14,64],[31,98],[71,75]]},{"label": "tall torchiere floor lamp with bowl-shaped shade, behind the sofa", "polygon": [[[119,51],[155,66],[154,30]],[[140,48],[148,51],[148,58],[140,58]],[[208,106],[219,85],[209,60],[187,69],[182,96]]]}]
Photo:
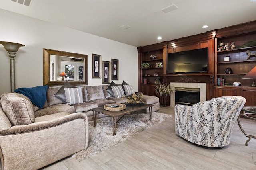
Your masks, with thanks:
[{"label": "tall torchiere floor lamp with bowl-shaped shade, behind the sofa", "polygon": [[20,47],[25,46],[23,44],[18,43],[11,43],[0,41],[0,44],[4,46],[4,49],[9,53],[10,57],[10,73],[11,73],[11,92],[15,90],[15,64],[14,64],[14,57],[16,52],[19,50]]}]

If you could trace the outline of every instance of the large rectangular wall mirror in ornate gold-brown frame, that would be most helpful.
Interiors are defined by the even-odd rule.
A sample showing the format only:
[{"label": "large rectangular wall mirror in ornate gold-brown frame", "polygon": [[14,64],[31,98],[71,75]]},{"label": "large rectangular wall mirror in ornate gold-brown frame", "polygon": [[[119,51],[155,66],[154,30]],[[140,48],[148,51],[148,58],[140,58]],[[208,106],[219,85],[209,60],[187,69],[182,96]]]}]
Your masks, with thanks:
[{"label": "large rectangular wall mirror in ornate gold-brown frame", "polygon": [[87,72],[88,55],[44,49],[44,85],[87,85]]}]

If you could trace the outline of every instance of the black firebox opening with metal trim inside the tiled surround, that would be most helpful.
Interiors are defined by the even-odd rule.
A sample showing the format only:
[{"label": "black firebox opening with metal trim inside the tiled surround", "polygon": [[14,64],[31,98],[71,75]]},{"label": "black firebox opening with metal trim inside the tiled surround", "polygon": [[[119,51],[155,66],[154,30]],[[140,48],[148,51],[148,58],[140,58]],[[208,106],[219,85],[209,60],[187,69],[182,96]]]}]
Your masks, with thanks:
[{"label": "black firebox opening with metal trim inside the tiled surround", "polygon": [[194,105],[200,101],[200,88],[175,87],[175,104]]}]

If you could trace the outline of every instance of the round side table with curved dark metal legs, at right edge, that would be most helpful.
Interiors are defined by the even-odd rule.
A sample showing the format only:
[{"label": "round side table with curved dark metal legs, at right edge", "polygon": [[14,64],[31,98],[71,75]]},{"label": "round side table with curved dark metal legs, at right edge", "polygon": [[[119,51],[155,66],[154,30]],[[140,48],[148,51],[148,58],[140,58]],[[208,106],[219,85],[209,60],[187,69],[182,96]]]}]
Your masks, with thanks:
[{"label": "round side table with curved dark metal legs, at right edge", "polygon": [[237,122],[238,122],[238,126],[240,127],[241,131],[244,133],[244,135],[246,137],[248,137],[249,139],[247,141],[245,141],[245,145],[247,146],[248,142],[251,140],[251,137],[252,138],[255,138],[256,139],[256,136],[253,136],[253,135],[248,135],[244,129],[242,128],[241,124],[240,124],[240,116],[244,116],[248,119],[252,119],[252,120],[256,120],[256,106],[244,106],[242,108],[242,113],[238,116],[237,118]]}]

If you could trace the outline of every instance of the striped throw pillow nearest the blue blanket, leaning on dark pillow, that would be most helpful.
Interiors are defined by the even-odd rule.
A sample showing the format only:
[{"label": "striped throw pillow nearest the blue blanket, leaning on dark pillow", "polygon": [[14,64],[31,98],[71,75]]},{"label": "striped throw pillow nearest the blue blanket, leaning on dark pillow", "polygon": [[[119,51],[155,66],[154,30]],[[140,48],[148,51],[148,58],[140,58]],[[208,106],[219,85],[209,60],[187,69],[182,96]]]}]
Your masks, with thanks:
[{"label": "striped throw pillow nearest the blue blanket, leaning on dark pillow", "polygon": [[64,88],[67,105],[83,103],[82,87],[77,88]]}]

